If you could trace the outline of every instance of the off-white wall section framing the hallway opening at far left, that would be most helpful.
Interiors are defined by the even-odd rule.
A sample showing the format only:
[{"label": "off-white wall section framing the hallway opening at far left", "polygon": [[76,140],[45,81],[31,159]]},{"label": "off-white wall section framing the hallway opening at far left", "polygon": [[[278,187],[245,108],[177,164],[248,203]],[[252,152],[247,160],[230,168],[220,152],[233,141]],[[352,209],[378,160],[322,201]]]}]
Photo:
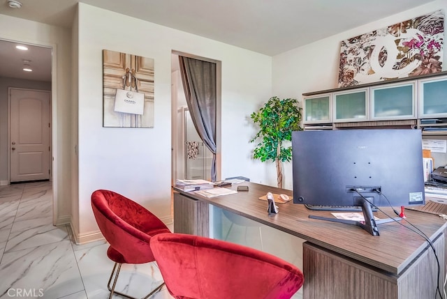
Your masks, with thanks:
[{"label": "off-white wall section framing the hallway opening at far left", "polygon": [[70,125],[71,125],[71,33],[17,17],[0,15],[0,38],[52,47],[52,155],[54,222],[68,222],[71,214]]}]

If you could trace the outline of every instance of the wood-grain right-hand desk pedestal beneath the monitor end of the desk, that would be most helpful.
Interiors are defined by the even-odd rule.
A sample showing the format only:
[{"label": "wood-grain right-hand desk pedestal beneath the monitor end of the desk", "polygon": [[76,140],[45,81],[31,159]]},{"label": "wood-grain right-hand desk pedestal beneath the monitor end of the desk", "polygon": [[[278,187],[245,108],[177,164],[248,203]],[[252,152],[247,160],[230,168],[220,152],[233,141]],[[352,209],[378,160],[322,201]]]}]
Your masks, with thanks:
[{"label": "wood-grain right-hand desk pedestal beneath the monitor end of the desk", "polygon": [[[444,253],[444,233],[435,240],[434,247],[437,252]],[[444,256],[438,258],[442,292]],[[303,263],[303,297],[306,299],[435,298],[438,268],[431,247],[427,247],[400,275],[365,266],[309,242],[303,245]]]}]

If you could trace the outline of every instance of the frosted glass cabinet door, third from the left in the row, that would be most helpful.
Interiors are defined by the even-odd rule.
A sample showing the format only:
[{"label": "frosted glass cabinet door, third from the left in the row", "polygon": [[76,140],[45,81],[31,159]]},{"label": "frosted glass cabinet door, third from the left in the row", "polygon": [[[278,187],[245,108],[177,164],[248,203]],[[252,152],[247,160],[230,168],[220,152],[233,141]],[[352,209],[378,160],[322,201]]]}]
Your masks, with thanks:
[{"label": "frosted glass cabinet door, third from the left in the row", "polygon": [[371,87],[371,118],[416,118],[415,82]]}]

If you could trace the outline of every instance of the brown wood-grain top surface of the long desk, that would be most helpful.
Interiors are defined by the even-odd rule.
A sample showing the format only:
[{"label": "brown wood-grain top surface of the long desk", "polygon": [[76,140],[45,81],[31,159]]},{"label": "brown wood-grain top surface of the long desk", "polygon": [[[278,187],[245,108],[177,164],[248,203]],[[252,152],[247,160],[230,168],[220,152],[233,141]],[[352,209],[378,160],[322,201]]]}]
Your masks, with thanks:
[{"label": "brown wood-grain top surface of the long desk", "polygon": [[[293,204],[292,201],[277,204],[279,213],[268,215],[267,201],[258,198],[267,192],[287,194],[291,197],[292,191],[256,183],[238,185],[249,185],[249,191],[213,198],[203,197],[194,192],[176,191],[393,274],[401,273],[427,247],[423,237],[397,222],[379,224],[380,236],[372,236],[355,225],[310,219],[309,215],[333,216],[327,211],[308,210],[303,205]],[[236,190],[237,185],[233,184],[228,188]],[[390,217],[395,215],[391,208],[381,210]],[[406,220],[423,231],[431,240],[437,238],[447,227],[446,221],[438,215],[416,210],[406,210],[405,213]],[[381,212],[374,215],[387,218]],[[402,224],[411,227],[406,220],[402,220]]]}]

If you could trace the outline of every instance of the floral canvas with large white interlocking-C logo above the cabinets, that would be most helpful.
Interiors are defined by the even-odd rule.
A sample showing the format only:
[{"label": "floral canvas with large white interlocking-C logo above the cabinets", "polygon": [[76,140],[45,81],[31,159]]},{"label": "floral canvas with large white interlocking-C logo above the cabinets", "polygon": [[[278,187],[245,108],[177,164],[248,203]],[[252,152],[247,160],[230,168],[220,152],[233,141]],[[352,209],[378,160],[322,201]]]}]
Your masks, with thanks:
[{"label": "floral canvas with large white interlocking-C logo above the cabinets", "polygon": [[442,70],[444,10],[342,40],[338,86]]}]

